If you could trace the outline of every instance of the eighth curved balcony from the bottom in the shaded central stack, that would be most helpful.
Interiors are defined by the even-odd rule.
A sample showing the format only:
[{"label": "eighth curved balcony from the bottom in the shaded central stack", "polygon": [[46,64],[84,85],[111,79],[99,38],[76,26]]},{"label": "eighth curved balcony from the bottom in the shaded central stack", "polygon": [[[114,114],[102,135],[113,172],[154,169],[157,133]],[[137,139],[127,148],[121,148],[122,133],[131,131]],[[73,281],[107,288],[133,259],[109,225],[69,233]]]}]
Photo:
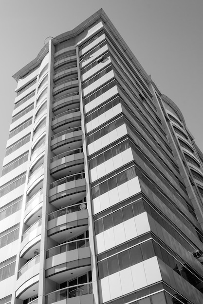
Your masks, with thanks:
[{"label": "eighth curved balcony from the bottom in the shaded central stack", "polygon": [[74,108],[79,108],[79,92],[72,92],[66,94],[60,98],[57,98],[53,101],[52,110],[55,115],[63,113],[64,111],[69,111]]}]

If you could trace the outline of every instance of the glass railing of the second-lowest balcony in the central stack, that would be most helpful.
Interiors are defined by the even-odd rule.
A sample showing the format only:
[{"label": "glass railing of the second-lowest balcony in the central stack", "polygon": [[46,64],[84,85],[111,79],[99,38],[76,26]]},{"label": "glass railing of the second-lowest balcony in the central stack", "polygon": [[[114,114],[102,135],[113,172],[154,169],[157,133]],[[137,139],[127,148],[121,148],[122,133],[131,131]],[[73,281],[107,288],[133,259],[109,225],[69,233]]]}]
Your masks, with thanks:
[{"label": "glass railing of the second-lowest balcony in the central stack", "polygon": [[67,242],[58,246],[55,246],[47,250],[47,258],[54,256],[59,253],[64,253],[74,249],[89,247],[89,238],[77,239],[71,242]]}]

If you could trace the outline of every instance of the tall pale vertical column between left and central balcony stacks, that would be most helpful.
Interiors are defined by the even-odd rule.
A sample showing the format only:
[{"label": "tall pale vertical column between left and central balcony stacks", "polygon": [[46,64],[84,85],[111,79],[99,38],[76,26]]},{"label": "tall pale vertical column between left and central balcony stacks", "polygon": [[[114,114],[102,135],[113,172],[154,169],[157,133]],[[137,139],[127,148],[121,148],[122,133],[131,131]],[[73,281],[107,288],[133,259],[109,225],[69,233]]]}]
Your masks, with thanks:
[{"label": "tall pale vertical column between left and central balcony stacks", "polygon": [[52,40],[50,40],[38,304],[45,303],[45,294],[47,293],[46,277],[45,277],[45,260],[46,260],[47,241],[48,241],[47,222],[48,222],[48,214],[49,214],[50,158],[51,158],[50,142],[52,135],[52,102],[53,102],[52,90],[53,90],[53,74],[54,74],[54,50],[55,50],[54,44],[52,43]]}]

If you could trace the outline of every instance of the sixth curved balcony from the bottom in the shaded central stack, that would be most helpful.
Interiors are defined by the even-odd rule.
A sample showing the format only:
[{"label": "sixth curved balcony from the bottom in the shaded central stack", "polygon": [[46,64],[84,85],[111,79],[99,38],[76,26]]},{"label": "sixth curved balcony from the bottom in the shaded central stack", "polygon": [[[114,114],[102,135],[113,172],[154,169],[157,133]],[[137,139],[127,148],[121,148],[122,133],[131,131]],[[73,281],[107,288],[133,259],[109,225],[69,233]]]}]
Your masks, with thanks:
[{"label": "sixth curved balcony from the bottom in the shaded central stack", "polygon": [[[62,147],[68,145],[67,147]],[[65,130],[52,136],[51,149],[55,154],[60,154],[65,151],[71,151],[82,146],[82,130],[81,127],[73,130]],[[64,150],[65,149],[65,150]]]}]

